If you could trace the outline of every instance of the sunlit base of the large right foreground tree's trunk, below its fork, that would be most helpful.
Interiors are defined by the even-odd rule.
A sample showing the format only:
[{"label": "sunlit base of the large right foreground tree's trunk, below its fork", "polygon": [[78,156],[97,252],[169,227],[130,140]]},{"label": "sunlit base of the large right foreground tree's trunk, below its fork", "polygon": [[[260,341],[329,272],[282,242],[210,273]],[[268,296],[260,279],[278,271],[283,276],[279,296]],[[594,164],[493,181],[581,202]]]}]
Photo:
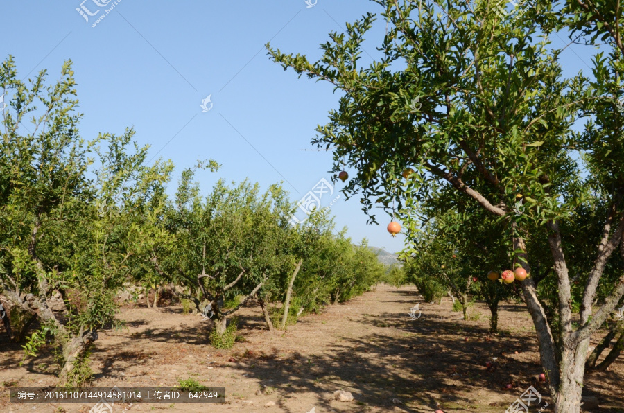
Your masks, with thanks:
[{"label": "sunlit base of the large right foreground tree's trunk, below its fork", "polygon": [[555,413],[580,412],[587,347],[589,347],[589,339],[580,342],[575,349],[564,347],[562,351]]}]

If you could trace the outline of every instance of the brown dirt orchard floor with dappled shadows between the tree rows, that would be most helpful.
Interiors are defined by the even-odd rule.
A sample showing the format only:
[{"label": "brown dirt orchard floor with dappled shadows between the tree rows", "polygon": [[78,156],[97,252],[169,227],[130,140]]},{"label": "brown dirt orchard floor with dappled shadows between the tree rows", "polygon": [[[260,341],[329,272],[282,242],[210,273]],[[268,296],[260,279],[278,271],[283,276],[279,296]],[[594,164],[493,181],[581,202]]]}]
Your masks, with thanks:
[{"label": "brown dirt orchard floor with dappled shadows between the tree rows", "polygon": [[[499,335],[489,335],[489,311],[470,309],[471,321],[442,304],[422,302],[413,287],[380,285],[320,315],[301,317],[288,331],[270,333],[258,306],[240,313],[241,342],[217,351],[207,342],[210,321],[181,306],[132,308],[128,328],[102,331],[92,355],[94,387],[173,387],[178,379],[225,387],[226,403],[116,403],[114,412],[504,412],[530,385],[551,403],[537,340],[523,306],[502,304]],[[410,308],[420,302],[421,317]],[[416,313],[418,315],[418,313]],[[594,337],[592,345],[600,337]],[[244,340],[244,341],[242,341]],[[516,353],[517,352],[517,353]],[[18,363],[23,352],[0,334],[0,412],[88,412],[93,403],[9,403],[9,387],[53,387],[51,354]],[[496,360],[496,371],[485,363]],[[624,362],[586,376],[584,395],[596,412],[624,412]],[[512,389],[505,385],[511,384]],[[333,392],[351,392],[340,402]],[[267,403],[275,405],[266,407]],[[438,405],[439,403],[439,405]],[[314,410],[313,410],[314,408]],[[545,411],[552,411],[553,406]],[[537,412],[538,406],[530,406]],[[107,411],[106,411],[107,412]]]}]

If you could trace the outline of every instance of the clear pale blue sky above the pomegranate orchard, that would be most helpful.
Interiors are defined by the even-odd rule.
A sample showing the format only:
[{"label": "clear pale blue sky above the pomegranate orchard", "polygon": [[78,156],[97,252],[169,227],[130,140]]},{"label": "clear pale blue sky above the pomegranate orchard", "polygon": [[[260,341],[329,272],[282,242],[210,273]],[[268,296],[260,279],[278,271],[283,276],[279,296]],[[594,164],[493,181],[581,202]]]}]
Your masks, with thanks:
[{"label": "clear pale blue sky above the pomegranate orchard", "polygon": [[[19,78],[48,69],[50,80],[71,59],[85,114],[81,136],[134,127],[135,139],[150,144],[150,157],[175,163],[173,187],[182,168],[211,158],[223,167],[198,173],[204,191],[218,178],[249,177],[264,187],[284,181],[292,199],[300,200],[320,179],[331,182],[331,155],[311,150],[310,141],[339,96],[327,83],[281,69],[264,45],[270,41],[281,51],[316,60],[331,30],[344,30],[346,21],[366,12],[381,12],[367,0],[316,1],[308,7],[304,0],[118,0],[115,6],[115,0],[4,0],[0,58],[15,57]],[[377,55],[384,31],[385,22],[378,21],[362,64]],[[553,37],[553,46],[564,46],[563,40]],[[592,51],[566,49],[566,73],[589,73]],[[209,95],[211,110],[202,112]],[[332,199],[342,183],[335,185]],[[322,206],[331,201],[325,196]],[[343,195],[331,212],[354,241],[366,237],[388,252],[402,249],[404,239],[388,234],[390,218],[383,213],[377,214],[383,225],[366,225],[358,198],[345,201]]]}]

